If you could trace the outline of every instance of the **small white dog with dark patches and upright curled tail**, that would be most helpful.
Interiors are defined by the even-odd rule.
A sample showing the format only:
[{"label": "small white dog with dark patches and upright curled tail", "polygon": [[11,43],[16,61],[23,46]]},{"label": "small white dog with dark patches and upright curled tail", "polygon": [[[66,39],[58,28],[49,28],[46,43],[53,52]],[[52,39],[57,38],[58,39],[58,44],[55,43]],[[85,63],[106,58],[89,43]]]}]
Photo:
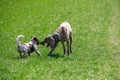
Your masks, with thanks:
[{"label": "small white dog with dark patches and upright curled tail", "polygon": [[[37,53],[38,56],[42,57],[41,53],[39,52],[39,50],[37,48],[37,45],[39,44],[38,38],[32,36],[30,42],[21,43],[20,40],[23,37],[24,37],[24,35],[19,35],[16,38],[16,42],[17,42],[17,45],[18,45],[17,51],[20,53],[20,57],[23,58],[27,54],[30,56],[30,53],[32,53],[34,51]],[[22,55],[22,53],[23,53],[23,55]]]}]

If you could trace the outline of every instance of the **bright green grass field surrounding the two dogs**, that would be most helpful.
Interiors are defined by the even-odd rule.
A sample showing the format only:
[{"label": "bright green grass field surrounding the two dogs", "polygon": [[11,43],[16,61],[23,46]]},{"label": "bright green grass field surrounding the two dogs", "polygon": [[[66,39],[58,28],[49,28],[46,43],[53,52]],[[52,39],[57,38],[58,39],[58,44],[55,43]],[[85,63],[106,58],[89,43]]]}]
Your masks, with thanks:
[{"label": "bright green grass field surrounding the two dogs", "polygon": [[[43,58],[19,58],[19,34],[43,40],[64,21],[73,29],[70,56],[59,44],[53,57],[39,45]],[[0,0],[0,80],[120,80],[120,1]]]}]

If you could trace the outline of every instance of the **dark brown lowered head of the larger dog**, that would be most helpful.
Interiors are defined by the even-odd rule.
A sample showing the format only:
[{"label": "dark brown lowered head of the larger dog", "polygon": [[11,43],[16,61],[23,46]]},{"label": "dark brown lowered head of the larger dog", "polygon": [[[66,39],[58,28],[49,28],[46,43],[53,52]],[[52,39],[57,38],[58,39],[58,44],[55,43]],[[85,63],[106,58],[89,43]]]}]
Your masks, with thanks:
[{"label": "dark brown lowered head of the larger dog", "polygon": [[50,48],[53,48],[55,44],[54,37],[52,35],[48,35],[42,42],[40,42],[40,44],[47,44],[46,47],[50,46]]}]

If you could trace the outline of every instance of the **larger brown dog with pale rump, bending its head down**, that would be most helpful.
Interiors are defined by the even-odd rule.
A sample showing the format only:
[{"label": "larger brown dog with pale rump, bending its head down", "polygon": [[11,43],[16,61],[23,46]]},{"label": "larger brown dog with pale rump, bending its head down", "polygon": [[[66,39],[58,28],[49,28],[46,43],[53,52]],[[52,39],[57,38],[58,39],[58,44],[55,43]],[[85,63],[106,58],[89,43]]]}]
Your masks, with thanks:
[{"label": "larger brown dog with pale rump, bending its head down", "polygon": [[56,48],[58,42],[61,42],[63,45],[64,55],[66,54],[64,42],[67,42],[67,54],[69,55],[70,53],[72,53],[72,29],[68,22],[61,23],[54,34],[45,37],[44,40],[40,42],[40,44],[47,44],[46,47],[51,48],[48,53],[48,56],[50,56],[53,50]]}]

